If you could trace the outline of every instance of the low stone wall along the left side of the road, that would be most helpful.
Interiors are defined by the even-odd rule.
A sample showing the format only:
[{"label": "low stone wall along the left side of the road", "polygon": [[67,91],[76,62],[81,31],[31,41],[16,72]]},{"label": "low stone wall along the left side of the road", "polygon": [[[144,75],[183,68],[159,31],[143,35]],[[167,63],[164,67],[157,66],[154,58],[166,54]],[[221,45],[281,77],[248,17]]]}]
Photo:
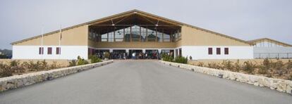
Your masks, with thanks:
[{"label": "low stone wall along the left side of the road", "polygon": [[44,82],[47,80],[66,76],[68,74],[73,74],[76,72],[81,72],[83,70],[89,70],[94,67],[107,65],[109,63],[113,63],[113,60],[108,60],[101,63],[80,65],[80,66],[75,66],[75,67],[64,67],[64,68],[60,68],[56,70],[33,72],[33,73],[28,73],[28,74],[15,75],[11,77],[3,77],[3,78],[0,78],[0,91],[6,91],[8,89],[16,89],[22,86],[35,84],[37,82]]}]

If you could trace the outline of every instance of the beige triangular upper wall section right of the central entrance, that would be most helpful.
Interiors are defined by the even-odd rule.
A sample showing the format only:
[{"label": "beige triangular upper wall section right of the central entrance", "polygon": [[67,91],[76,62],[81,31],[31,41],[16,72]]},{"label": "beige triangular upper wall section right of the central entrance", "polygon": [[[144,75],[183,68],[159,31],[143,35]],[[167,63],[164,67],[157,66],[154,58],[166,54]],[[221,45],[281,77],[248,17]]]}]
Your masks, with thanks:
[{"label": "beige triangular upper wall section right of the central entrance", "polygon": [[177,46],[250,46],[250,44],[184,25],[181,27],[181,41],[177,42]]}]

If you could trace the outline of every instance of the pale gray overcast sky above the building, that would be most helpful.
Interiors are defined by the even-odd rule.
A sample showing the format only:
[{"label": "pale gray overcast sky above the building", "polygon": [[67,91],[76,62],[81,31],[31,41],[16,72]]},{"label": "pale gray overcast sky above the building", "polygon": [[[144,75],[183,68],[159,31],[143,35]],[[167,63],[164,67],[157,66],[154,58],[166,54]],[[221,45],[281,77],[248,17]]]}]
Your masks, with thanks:
[{"label": "pale gray overcast sky above the building", "polygon": [[1,0],[0,48],[11,42],[124,11],[148,13],[250,40],[292,44],[291,0]]}]

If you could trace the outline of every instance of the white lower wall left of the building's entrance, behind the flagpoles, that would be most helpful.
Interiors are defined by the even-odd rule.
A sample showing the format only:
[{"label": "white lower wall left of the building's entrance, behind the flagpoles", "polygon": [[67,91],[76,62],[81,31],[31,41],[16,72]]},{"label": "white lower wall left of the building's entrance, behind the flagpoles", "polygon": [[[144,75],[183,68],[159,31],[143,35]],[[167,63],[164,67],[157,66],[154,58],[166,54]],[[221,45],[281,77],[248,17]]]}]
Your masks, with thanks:
[{"label": "white lower wall left of the building's entrance, behind the flagpoles", "polygon": [[[39,47],[44,47],[44,54],[39,55]],[[47,48],[52,48],[52,54],[47,54]],[[61,54],[56,55],[56,47],[61,47]],[[12,46],[13,59],[77,59],[77,56],[87,59],[88,46]]]}]

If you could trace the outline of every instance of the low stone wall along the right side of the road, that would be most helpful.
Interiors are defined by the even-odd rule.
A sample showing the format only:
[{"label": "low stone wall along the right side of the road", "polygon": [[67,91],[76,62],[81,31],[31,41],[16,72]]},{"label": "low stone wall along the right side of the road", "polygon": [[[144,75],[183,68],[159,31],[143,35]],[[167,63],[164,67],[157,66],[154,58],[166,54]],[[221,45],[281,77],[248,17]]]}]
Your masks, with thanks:
[{"label": "low stone wall along the right side of the road", "polygon": [[253,74],[230,72],[226,70],[216,70],[209,67],[198,67],[194,65],[187,65],[187,64],[181,64],[181,63],[171,63],[171,62],[166,62],[163,60],[160,60],[159,62],[165,65],[181,67],[183,69],[190,70],[193,72],[200,72],[200,73],[209,74],[216,77],[221,77],[224,79],[236,80],[238,82],[253,84],[255,86],[265,86],[265,87],[269,87],[270,89],[275,89],[277,91],[292,94],[292,81],[289,81],[289,80],[274,79],[274,78],[269,78],[269,77],[256,76]]}]

